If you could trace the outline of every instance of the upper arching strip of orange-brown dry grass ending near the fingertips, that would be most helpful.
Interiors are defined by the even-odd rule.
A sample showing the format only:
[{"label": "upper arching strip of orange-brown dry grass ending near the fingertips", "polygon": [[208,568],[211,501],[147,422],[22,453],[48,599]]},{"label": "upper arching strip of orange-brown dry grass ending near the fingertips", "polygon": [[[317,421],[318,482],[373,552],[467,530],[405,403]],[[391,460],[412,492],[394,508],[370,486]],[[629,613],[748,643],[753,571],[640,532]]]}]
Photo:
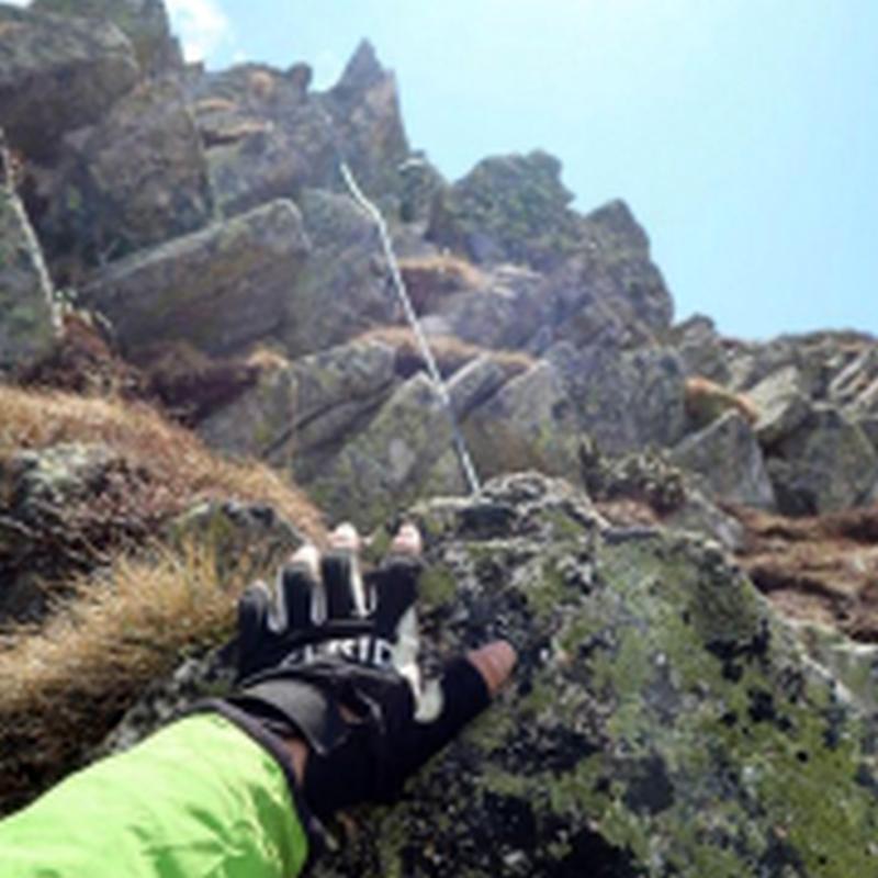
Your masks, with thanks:
[{"label": "upper arching strip of orange-brown dry grass ending near the fingertips", "polygon": [[101,442],[149,473],[149,500],[169,516],[200,500],[235,497],[273,506],[312,539],[325,536],[319,511],[296,487],[260,463],[212,453],[196,436],[144,404],[0,385],[0,453]]}]

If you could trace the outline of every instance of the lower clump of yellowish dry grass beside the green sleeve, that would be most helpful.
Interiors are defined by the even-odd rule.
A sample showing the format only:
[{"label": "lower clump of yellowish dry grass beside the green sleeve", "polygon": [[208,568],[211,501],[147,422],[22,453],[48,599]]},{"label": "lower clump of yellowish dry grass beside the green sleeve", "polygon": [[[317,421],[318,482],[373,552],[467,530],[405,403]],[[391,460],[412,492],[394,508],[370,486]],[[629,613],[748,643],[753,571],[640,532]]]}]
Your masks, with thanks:
[{"label": "lower clump of yellowish dry grass beside the green sleeve", "polygon": [[219,579],[210,545],[120,558],[0,652],[0,812],[81,764],[154,679],[217,642],[251,571]]}]

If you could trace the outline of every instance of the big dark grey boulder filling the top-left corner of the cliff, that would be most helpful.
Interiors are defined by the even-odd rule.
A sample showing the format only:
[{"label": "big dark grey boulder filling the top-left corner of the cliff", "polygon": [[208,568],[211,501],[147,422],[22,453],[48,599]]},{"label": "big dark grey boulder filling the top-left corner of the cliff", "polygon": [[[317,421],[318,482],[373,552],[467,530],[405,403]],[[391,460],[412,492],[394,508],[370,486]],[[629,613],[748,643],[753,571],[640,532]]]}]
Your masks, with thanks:
[{"label": "big dark grey boulder filling the top-left corner of the cliff", "polygon": [[138,80],[127,37],[112,23],[0,8],[0,120],[27,156],[97,122]]}]

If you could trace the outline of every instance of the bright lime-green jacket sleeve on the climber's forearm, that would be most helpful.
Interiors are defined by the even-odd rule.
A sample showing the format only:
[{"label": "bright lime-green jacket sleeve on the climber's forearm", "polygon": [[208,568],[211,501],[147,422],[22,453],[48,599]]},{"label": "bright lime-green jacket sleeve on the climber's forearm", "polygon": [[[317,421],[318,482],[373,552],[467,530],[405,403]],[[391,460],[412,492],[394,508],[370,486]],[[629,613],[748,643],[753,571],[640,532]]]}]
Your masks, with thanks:
[{"label": "bright lime-green jacket sleeve on the climber's forearm", "polygon": [[307,840],[275,759],[194,716],[0,822],[3,878],[292,878]]}]

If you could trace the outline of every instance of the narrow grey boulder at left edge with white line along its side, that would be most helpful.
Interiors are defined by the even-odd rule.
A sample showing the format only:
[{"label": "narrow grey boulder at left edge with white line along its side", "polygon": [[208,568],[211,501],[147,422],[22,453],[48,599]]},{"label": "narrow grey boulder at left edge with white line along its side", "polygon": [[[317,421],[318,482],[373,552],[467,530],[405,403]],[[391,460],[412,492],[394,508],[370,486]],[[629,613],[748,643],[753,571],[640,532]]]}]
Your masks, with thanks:
[{"label": "narrow grey boulder at left edge with white line along its side", "polygon": [[0,132],[0,373],[42,358],[59,329],[43,255],[11,178]]}]

